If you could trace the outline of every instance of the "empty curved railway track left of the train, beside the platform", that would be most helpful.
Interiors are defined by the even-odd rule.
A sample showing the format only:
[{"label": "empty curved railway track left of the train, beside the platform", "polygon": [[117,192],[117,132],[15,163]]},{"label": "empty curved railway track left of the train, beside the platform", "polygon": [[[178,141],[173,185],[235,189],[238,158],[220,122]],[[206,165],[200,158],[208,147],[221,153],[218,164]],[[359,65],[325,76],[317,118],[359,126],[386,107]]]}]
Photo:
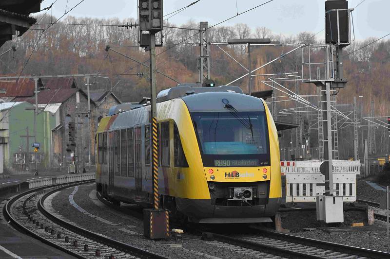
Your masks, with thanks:
[{"label": "empty curved railway track left of the train, beside the platform", "polygon": [[3,207],[4,218],[20,231],[76,258],[167,259],[77,226],[51,214],[44,207],[45,199],[53,193],[94,181],[56,184],[20,193],[12,197]]}]

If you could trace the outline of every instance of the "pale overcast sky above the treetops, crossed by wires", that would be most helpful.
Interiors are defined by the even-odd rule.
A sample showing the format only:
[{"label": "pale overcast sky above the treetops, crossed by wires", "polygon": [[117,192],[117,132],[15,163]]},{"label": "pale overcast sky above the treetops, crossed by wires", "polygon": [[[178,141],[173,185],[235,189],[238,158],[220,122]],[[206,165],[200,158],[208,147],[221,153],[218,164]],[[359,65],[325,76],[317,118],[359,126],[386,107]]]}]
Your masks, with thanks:
[{"label": "pale overcast sky above the treetops, crossed by wires", "polygon": [[[41,7],[49,6],[54,0],[44,0]],[[60,17],[67,9],[71,9],[80,0],[57,0],[53,5],[52,13]],[[165,0],[164,13],[168,14],[180,9],[195,0]],[[187,22],[190,18],[195,22],[208,21],[209,26],[228,17],[241,13],[267,0],[200,0],[195,5],[169,19],[176,25]],[[349,0],[349,8],[354,8],[362,0]],[[292,35],[307,31],[317,33],[324,28],[325,17],[324,0],[273,0],[246,14],[234,17],[222,25],[246,23],[251,28],[265,26],[275,34]],[[381,37],[389,32],[390,28],[390,0],[364,0],[355,11],[353,21],[355,36],[364,39],[370,36]],[[68,15],[76,17],[137,17],[137,0],[84,0]],[[319,34],[324,38],[324,33]]]}]

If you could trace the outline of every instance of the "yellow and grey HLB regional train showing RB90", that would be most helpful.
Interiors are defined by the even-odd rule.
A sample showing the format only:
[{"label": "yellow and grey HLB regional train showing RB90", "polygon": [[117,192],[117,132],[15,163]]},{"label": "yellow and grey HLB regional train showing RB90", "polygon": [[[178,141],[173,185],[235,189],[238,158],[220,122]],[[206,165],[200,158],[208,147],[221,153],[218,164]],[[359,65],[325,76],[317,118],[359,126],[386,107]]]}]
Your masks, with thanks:
[{"label": "yellow and grey HLB regional train showing RB90", "polygon": [[[97,191],[153,207],[151,107],[120,104],[97,131]],[[278,136],[263,99],[238,86],[179,84],[157,95],[158,194],[193,223],[271,222],[281,201]]]}]

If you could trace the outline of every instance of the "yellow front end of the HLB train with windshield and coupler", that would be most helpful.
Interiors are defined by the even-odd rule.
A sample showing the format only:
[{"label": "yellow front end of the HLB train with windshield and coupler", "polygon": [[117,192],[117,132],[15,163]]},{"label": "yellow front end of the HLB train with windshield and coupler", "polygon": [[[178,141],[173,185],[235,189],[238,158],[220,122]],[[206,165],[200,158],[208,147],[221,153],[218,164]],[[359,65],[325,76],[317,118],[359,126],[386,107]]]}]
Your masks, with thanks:
[{"label": "yellow front end of the HLB train with windshield and coupler", "polygon": [[281,176],[276,127],[265,102],[231,92],[182,100],[196,137],[195,143],[183,139],[183,148],[197,177],[188,186],[190,199],[176,197],[178,210],[196,223],[271,222]]}]

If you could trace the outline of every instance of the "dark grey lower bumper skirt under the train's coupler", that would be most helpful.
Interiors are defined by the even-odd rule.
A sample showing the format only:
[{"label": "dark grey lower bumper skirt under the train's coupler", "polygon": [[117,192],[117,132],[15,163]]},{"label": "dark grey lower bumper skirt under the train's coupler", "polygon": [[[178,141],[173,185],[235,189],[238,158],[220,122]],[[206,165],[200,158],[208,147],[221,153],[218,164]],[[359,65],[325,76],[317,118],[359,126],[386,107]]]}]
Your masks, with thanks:
[{"label": "dark grey lower bumper skirt under the train's coupler", "polygon": [[177,209],[194,223],[262,223],[272,222],[281,198],[269,198],[267,205],[218,206],[211,200],[176,198]]}]

